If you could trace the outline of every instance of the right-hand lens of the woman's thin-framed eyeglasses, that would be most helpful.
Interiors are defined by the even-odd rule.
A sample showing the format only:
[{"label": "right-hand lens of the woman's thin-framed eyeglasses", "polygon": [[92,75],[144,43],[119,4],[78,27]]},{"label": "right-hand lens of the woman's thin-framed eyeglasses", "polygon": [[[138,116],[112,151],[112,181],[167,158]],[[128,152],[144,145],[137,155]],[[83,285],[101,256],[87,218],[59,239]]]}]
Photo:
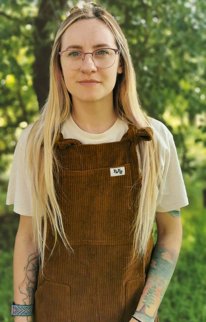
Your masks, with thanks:
[{"label": "right-hand lens of the woman's thin-framed eyeglasses", "polygon": [[111,67],[116,59],[116,53],[113,49],[101,48],[94,52],[93,60],[96,66],[100,68]]}]

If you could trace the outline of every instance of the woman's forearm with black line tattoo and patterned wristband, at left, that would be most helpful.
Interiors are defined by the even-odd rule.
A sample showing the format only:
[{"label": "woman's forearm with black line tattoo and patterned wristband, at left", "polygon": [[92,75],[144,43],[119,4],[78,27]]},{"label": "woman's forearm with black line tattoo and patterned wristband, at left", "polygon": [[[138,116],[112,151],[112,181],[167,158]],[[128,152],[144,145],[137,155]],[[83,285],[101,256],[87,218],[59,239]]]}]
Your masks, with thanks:
[{"label": "woman's forearm with black line tattoo and patterned wristband, at left", "polygon": [[[14,248],[14,303],[34,304],[39,258],[31,240],[17,232]],[[31,317],[15,317],[15,322],[29,322]]]}]

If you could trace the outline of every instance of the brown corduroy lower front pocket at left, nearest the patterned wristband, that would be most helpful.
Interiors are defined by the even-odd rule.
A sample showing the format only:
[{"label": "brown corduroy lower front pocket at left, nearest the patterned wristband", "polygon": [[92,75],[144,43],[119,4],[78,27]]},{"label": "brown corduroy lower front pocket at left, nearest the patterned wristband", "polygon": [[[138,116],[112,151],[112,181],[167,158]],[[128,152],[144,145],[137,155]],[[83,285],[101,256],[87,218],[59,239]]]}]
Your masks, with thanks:
[{"label": "brown corduroy lower front pocket at left, nearest the patterned wristband", "polygon": [[45,281],[35,293],[35,322],[70,321],[70,287]]}]

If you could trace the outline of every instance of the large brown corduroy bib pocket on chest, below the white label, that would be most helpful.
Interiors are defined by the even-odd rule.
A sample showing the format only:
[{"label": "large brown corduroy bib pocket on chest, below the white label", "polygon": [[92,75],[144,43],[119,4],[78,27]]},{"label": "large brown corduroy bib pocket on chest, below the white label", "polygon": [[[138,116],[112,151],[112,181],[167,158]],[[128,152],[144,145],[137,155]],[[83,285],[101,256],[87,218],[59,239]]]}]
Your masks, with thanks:
[{"label": "large brown corduroy bib pocket on chest, below the white label", "polygon": [[62,171],[60,207],[70,244],[119,245],[133,242],[131,189],[130,164]]}]

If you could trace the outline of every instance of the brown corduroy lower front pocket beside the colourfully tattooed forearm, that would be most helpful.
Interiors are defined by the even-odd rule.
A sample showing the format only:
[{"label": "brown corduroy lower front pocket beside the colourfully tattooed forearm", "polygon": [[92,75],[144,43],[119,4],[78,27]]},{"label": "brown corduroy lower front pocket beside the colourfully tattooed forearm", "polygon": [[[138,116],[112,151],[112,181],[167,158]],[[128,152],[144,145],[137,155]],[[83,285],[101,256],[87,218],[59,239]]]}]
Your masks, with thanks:
[{"label": "brown corduroy lower front pocket beside the colourfully tattooed forearm", "polygon": [[145,285],[145,277],[126,283],[124,322],[129,322],[135,313]]}]

